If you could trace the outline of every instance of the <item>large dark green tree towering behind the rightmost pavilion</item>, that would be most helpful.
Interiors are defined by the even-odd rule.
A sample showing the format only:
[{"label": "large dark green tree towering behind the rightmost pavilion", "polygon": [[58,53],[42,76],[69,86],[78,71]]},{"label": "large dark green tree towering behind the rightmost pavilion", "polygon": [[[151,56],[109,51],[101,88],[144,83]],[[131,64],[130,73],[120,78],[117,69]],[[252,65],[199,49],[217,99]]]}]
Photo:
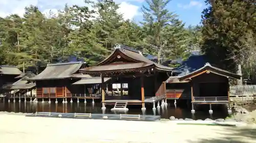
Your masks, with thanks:
[{"label": "large dark green tree towering behind the rightmost pavilion", "polygon": [[244,64],[247,50],[244,39],[248,33],[255,37],[255,1],[206,1],[203,11],[202,51],[211,63],[236,72]]}]

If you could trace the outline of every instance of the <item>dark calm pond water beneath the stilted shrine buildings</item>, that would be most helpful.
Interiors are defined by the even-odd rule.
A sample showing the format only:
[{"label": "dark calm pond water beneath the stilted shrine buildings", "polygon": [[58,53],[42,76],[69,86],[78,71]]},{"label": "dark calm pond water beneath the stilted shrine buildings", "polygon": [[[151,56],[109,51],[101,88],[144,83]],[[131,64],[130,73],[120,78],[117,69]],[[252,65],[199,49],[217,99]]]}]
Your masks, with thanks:
[{"label": "dark calm pond water beneath the stilted shrine buildings", "polygon": [[[45,103],[30,103],[30,102],[0,102],[0,111],[8,111],[8,112],[79,112],[79,113],[103,113],[101,109],[101,103],[58,103],[55,104],[52,102],[49,104],[48,102]],[[104,113],[124,113],[124,112],[114,112],[110,109],[113,108],[112,106],[106,106],[106,110]],[[141,106],[129,106],[129,111],[125,112],[127,114],[140,114],[142,115]],[[190,119],[218,119],[218,118],[226,118],[228,116],[228,113],[226,111],[225,107],[219,107],[214,110],[214,113],[210,115],[208,113],[207,107],[200,107],[198,110],[196,109],[196,113],[190,112],[190,107],[186,105],[177,105],[177,107],[174,106],[172,103],[168,103],[167,106],[163,106],[160,108],[157,108],[156,110],[152,109],[152,104],[146,105],[146,115],[160,115],[163,119],[168,119],[170,116],[174,116],[175,118],[190,118]]]}]

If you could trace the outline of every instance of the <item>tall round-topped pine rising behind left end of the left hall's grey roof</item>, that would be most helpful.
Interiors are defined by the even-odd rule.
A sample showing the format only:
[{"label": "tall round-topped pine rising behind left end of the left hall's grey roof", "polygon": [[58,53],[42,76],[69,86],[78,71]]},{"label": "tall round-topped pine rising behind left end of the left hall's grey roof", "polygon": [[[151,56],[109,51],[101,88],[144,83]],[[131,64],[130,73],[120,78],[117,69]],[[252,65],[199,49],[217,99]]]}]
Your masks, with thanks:
[{"label": "tall round-topped pine rising behind left end of the left hall's grey roof", "polygon": [[20,40],[20,44],[30,57],[26,63],[29,66],[45,65],[49,63],[45,37],[45,17],[35,6],[30,6],[25,10],[24,33],[26,35]]}]

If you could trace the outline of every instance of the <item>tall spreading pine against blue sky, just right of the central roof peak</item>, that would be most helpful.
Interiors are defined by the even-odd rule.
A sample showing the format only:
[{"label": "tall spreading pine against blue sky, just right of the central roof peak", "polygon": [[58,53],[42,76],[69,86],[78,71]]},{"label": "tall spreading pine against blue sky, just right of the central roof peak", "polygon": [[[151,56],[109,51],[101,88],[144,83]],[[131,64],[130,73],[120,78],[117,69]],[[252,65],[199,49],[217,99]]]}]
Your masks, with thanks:
[{"label": "tall spreading pine against blue sky, just right of the central roof peak", "polygon": [[[172,55],[183,59],[186,55],[184,52],[187,49],[187,41],[183,39],[185,38],[184,23],[178,20],[175,13],[166,9],[169,2],[170,0],[147,0],[147,6],[142,7],[144,17],[142,24],[148,35],[146,41],[149,43],[144,51],[151,54],[157,53],[158,63],[163,55],[167,57],[162,58],[162,62],[174,58]],[[171,53],[172,55],[169,56]]]}]

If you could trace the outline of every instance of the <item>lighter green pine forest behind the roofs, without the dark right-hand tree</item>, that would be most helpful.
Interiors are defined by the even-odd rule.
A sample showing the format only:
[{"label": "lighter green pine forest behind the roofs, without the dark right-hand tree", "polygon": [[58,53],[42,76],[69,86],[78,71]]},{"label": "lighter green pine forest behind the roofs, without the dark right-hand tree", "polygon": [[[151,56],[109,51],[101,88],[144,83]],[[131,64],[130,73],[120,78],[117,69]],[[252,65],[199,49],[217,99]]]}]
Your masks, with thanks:
[{"label": "lighter green pine forest behind the roofs, without the dark right-hand tree", "polygon": [[147,1],[142,25],[123,19],[113,1],[66,5],[58,14],[50,11],[47,16],[35,6],[27,7],[23,17],[0,17],[0,64],[26,68],[72,54],[94,65],[117,44],[153,55],[160,51],[163,61],[186,59],[189,46],[198,44],[198,39],[191,40],[196,30],[185,28],[177,15],[165,8],[168,2]]}]

